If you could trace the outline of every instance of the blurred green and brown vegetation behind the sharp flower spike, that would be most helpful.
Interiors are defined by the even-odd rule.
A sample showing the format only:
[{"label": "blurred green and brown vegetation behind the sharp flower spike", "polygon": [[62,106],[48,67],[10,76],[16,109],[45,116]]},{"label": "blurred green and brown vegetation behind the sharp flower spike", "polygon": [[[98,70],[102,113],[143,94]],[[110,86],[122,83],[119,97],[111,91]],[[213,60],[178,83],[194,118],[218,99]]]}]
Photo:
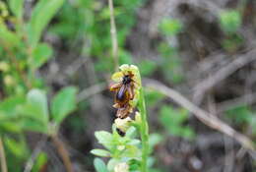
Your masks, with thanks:
[{"label": "blurred green and brown vegetation behind the sharp flower spike", "polygon": [[[56,140],[76,172],[95,171],[95,132],[110,131],[115,114],[109,17],[106,0],[0,1],[8,171],[65,171]],[[114,0],[114,17],[120,64],[139,66],[145,84],[174,88],[256,141],[256,63],[246,61],[256,57],[254,0]],[[214,84],[205,88],[209,78]],[[256,171],[253,152],[146,90],[152,172]]]}]

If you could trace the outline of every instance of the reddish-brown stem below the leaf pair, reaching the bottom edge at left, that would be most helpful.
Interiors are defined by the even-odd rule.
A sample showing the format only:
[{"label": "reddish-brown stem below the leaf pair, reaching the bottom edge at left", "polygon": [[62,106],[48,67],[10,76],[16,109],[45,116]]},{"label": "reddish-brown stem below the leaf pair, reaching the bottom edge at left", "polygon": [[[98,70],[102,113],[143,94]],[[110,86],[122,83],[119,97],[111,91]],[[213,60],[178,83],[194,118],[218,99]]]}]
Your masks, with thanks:
[{"label": "reddish-brown stem below the leaf pair, reaching the bottom edge at left", "polygon": [[51,136],[51,139],[57,148],[67,172],[74,172],[68,150],[65,148],[65,143],[63,143],[56,135]]}]

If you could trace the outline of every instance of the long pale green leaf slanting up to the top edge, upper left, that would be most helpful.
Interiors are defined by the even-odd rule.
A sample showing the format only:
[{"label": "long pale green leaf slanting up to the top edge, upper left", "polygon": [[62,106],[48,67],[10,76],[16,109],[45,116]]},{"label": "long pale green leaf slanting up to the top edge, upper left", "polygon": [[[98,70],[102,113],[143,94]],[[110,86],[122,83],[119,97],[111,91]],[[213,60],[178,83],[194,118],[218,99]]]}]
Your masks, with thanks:
[{"label": "long pale green leaf slanting up to the top edge, upper left", "polygon": [[43,29],[63,5],[64,0],[40,0],[32,10],[32,18],[28,26],[29,41],[35,47]]}]

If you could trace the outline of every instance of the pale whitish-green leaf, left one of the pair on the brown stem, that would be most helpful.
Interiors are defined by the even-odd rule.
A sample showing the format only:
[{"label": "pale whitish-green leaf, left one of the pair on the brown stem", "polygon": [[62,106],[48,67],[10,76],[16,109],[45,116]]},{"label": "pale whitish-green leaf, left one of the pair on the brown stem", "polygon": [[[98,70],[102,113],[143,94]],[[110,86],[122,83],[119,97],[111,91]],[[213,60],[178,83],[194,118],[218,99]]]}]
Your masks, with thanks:
[{"label": "pale whitish-green leaf, left one of the pair on the brown stem", "polygon": [[20,108],[22,114],[44,125],[48,124],[48,105],[45,92],[40,89],[32,89],[27,95],[27,103]]}]

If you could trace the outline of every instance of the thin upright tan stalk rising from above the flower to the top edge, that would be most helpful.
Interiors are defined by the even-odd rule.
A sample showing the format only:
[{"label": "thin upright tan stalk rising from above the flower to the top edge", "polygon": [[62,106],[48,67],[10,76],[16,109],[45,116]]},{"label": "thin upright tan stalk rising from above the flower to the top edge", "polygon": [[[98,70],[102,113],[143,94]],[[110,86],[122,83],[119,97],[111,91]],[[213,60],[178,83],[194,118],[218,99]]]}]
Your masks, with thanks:
[{"label": "thin upright tan stalk rising from above the flower to the top edge", "polygon": [[117,42],[117,33],[116,33],[116,27],[115,27],[115,21],[114,21],[114,7],[113,7],[113,1],[108,0],[108,6],[110,11],[110,33],[111,33],[111,40],[112,40],[112,56],[113,56],[113,62],[114,62],[114,68],[117,71],[118,70],[118,42]]}]

